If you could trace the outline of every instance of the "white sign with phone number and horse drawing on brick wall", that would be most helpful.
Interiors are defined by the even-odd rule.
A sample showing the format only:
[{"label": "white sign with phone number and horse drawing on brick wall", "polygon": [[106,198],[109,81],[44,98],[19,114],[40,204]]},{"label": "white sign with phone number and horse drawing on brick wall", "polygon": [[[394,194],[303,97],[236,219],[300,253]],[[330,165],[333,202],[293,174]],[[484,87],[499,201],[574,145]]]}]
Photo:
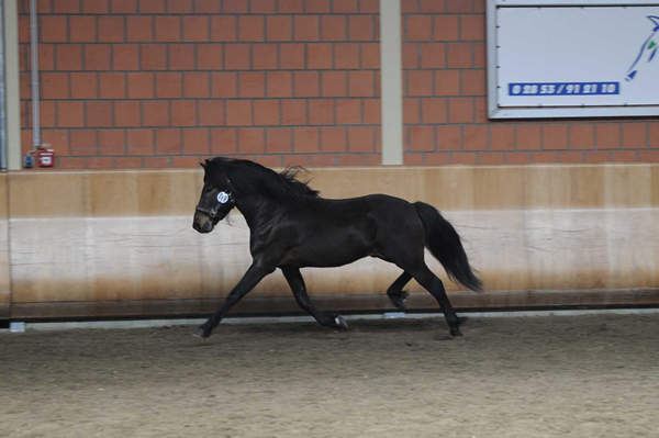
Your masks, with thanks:
[{"label": "white sign with phone number and horse drawing on brick wall", "polygon": [[490,116],[659,114],[659,3],[646,3],[492,0]]}]

